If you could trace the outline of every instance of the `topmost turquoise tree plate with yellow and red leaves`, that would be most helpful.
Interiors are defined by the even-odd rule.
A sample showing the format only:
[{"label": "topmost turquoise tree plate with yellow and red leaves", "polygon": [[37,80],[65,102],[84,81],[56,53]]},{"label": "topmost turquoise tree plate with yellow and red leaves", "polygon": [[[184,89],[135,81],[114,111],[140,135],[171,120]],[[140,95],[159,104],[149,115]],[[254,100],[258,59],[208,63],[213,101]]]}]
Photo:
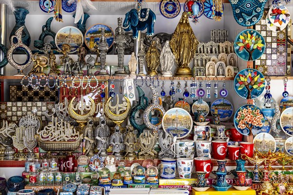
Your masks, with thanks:
[{"label": "topmost turquoise tree plate with yellow and red leaves", "polygon": [[259,59],[265,52],[265,48],[265,39],[254,29],[241,31],[234,40],[235,54],[245,61]]}]

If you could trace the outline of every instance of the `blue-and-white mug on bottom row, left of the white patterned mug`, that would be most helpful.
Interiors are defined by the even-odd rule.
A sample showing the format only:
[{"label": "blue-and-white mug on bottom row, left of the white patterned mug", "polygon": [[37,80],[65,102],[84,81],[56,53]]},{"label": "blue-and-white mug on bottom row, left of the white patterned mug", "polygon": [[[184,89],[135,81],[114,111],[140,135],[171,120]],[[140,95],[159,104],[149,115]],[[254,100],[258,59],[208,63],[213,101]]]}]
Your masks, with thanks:
[{"label": "blue-and-white mug on bottom row, left of the white patterned mug", "polygon": [[176,174],[176,159],[162,158],[160,176],[163,179],[174,179]]}]

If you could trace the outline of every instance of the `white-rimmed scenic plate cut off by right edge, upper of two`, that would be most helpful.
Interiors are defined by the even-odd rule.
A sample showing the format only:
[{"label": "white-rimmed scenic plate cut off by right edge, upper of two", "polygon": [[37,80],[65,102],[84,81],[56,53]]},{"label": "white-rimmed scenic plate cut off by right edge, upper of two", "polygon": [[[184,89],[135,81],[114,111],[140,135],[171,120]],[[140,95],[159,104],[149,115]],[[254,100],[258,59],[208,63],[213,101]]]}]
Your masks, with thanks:
[{"label": "white-rimmed scenic plate cut off by right edge, upper of two", "polygon": [[293,136],[293,107],[286,108],[286,110],[282,112],[280,125],[287,135]]}]

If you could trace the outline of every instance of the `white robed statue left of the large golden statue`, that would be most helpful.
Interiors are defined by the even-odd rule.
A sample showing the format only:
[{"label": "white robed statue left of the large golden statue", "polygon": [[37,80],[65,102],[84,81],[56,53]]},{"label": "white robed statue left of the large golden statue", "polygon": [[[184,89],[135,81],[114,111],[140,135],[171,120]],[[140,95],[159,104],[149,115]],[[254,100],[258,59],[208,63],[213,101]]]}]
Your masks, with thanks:
[{"label": "white robed statue left of the large golden statue", "polygon": [[172,72],[170,70],[174,64],[174,59],[175,56],[172,53],[171,48],[169,47],[169,41],[167,40],[160,55],[161,73],[165,77],[172,77]]}]

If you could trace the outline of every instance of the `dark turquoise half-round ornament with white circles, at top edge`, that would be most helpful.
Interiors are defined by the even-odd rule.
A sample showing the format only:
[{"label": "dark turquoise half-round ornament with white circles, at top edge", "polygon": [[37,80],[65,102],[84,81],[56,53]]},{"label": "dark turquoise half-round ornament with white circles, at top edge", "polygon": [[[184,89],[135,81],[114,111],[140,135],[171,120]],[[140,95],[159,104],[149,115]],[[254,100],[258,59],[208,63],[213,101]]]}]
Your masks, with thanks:
[{"label": "dark turquoise half-round ornament with white circles, at top edge", "polygon": [[262,17],[267,0],[229,0],[234,19],[241,26],[253,26]]}]

